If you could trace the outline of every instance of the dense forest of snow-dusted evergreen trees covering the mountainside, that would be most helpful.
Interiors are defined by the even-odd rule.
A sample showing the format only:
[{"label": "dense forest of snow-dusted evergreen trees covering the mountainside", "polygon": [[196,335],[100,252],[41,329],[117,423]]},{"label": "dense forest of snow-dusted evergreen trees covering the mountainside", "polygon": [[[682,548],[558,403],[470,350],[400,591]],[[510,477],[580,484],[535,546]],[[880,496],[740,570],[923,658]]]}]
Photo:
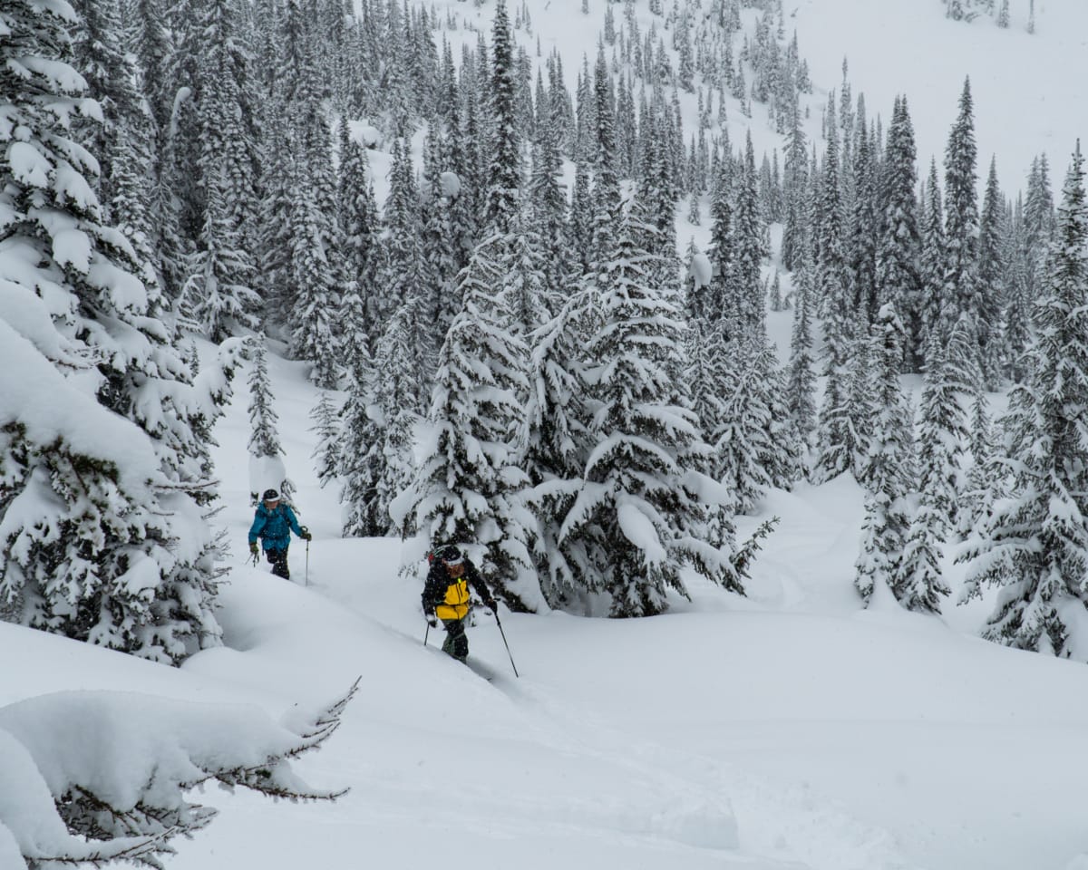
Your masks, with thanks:
[{"label": "dense forest of snow-dusted evergreen trees covering the mountainside", "polygon": [[[1088,600],[1079,149],[1056,210],[1042,156],[1014,198],[991,160],[979,200],[969,83],[919,176],[907,97],[886,126],[845,64],[809,140],[780,0],[650,5],[648,30],[607,5],[569,89],[502,0],[458,58],[465,16],[396,0],[7,3],[0,326],[150,457],[0,408],[7,618],[169,661],[217,642],[210,432],[256,355],[250,449],[282,452],[267,335],[311,366],[344,534],[469,544],[512,608],[658,613],[687,569],[743,593],[735,514],[849,472],[863,598],[939,611],[954,546],[972,595],[1005,587],[989,635],[1061,655]],[[730,141],[754,104],[781,156]]]}]

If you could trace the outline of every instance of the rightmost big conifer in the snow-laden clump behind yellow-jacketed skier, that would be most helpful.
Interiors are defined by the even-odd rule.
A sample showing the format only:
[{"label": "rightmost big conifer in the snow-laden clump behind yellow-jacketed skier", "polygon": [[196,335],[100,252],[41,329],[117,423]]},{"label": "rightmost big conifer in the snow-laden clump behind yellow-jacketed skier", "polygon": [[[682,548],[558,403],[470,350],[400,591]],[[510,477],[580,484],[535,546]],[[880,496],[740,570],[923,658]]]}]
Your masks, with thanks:
[{"label": "rightmost big conifer in the snow-laden clump behind yellow-jacketed skier", "polygon": [[698,537],[705,514],[692,465],[701,438],[694,414],[672,402],[670,371],[682,370],[680,312],[648,281],[654,258],[635,239],[650,232],[625,214],[598,275],[599,326],[585,373],[599,402],[596,447],[559,542],[578,554],[579,581],[607,594],[615,617],[662,612],[669,589],[687,594],[684,564],[720,580],[729,556]]}]

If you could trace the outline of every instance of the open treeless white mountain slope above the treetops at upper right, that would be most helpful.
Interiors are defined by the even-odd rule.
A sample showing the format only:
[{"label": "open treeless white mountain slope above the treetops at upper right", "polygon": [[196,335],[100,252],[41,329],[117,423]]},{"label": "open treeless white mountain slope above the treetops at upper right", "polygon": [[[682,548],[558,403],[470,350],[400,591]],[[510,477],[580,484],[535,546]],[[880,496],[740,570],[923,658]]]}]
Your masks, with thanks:
[{"label": "open treeless white mountain slope above the treetops at upper right", "polygon": [[1038,0],[1036,33],[1027,33],[1028,0],[1013,0],[1007,29],[988,17],[953,22],[941,0],[794,0],[792,24],[814,83],[838,87],[842,61],[856,97],[887,127],[892,102],[905,94],[924,173],[942,161],[965,77],[975,98],[975,134],[985,181],[991,154],[1006,191],[1024,187],[1031,159],[1047,153],[1060,189],[1077,138],[1088,134],[1088,4]]}]

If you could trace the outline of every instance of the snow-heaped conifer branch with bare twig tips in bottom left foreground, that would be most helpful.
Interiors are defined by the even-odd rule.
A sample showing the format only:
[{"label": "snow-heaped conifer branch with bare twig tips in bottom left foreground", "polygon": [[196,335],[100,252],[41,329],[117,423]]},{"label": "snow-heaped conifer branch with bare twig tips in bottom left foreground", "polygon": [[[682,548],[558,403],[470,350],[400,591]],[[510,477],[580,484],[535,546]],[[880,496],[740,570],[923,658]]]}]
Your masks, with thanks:
[{"label": "snow-heaped conifer branch with bare twig tips in bottom left foreground", "polygon": [[186,792],[214,780],[288,800],[332,800],[289,760],[336,730],[356,691],[274,722],[248,705],[122,692],[59,692],[0,708],[0,866],[161,868],[171,840],[217,810]]}]

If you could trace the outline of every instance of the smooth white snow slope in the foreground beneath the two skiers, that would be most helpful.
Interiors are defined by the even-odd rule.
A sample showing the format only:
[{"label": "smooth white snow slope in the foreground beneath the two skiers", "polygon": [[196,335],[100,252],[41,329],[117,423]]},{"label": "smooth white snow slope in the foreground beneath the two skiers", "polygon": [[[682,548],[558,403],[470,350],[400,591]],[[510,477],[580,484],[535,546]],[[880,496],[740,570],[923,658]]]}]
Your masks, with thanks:
[{"label": "smooth white snow slope in the foreground beneath the two skiers", "polygon": [[[244,373],[217,431],[237,562],[226,646],[171,670],[0,625],[34,662],[0,703],[63,687],[245,700],[273,716],[361,675],[326,748],[298,762],[348,785],[336,805],[209,792],[222,818],[176,870],[295,870],[366,861],[499,870],[764,868],[1063,870],[1088,852],[1088,669],[1015,652],[851,592],[861,499],[842,480],[771,494],[782,527],[751,597],[696,588],[648,620],[504,616],[470,630],[487,683],[422,645],[419,589],[396,540],[344,540],[317,488],[301,368],[273,357],[306,551],[295,583],[243,563]],[[792,863],[791,863],[792,862]]]}]

